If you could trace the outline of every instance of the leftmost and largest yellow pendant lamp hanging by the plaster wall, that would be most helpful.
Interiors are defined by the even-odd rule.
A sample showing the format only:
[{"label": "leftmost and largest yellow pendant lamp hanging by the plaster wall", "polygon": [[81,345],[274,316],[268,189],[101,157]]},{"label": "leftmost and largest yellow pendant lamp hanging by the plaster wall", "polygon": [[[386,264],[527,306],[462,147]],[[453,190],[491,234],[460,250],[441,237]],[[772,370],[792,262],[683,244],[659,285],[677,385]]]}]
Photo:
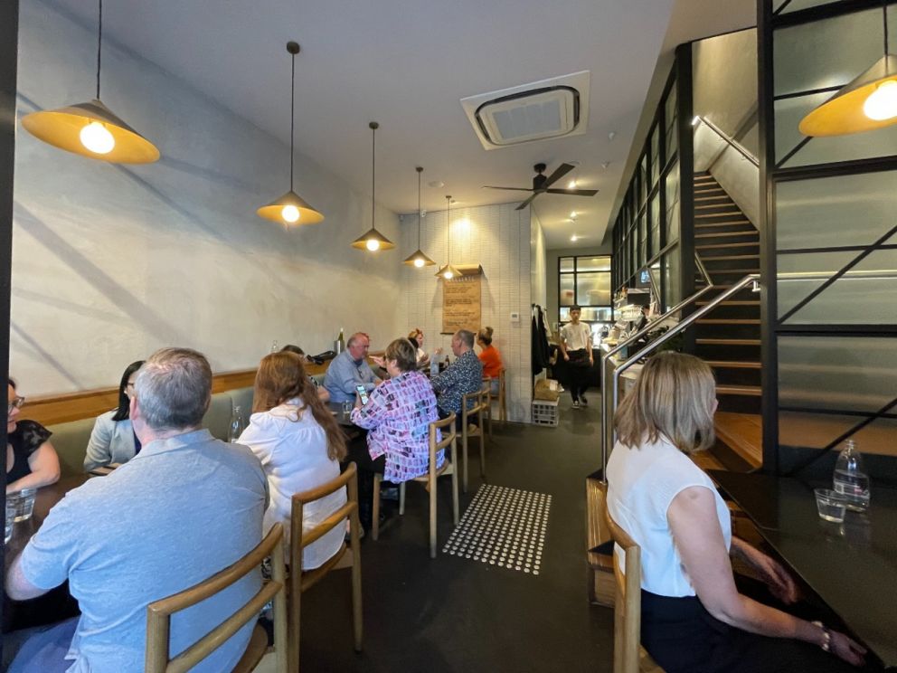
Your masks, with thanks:
[{"label": "leftmost and largest yellow pendant lamp hanging by the plaster wall", "polygon": [[152,164],[159,150],[99,100],[99,66],[103,44],[103,0],[97,30],[97,98],[67,108],[32,112],[22,126],[34,137],[67,152],[111,164]]}]

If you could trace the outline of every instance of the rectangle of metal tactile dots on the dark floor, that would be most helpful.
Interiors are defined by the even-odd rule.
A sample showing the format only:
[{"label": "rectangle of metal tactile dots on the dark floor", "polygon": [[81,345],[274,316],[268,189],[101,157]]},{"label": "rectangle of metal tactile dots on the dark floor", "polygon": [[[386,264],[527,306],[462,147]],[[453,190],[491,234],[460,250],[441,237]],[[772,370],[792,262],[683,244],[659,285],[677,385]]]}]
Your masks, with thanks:
[{"label": "rectangle of metal tactile dots on the dark floor", "polygon": [[551,507],[545,493],[484,484],[442,553],[537,575]]}]

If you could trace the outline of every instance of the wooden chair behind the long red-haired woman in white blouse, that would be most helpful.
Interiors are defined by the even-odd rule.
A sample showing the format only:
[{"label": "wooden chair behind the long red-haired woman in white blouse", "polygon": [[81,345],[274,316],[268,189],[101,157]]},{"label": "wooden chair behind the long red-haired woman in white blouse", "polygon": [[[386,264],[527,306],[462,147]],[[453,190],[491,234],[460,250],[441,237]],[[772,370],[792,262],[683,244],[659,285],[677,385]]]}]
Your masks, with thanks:
[{"label": "wooden chair behind the long red-haired woman in white blouse", "polygon": [[[304,507],[308,503],[326,498],[344,487],[347,491],[345,505],[311,530],[303,531],[302,512]],[[352,569],[352,630],[355,651],[362,650],[361,526],[358,521],[358,471],[354,462],[349,463],[345,471],[336,479],[317,488],[295,494],[292,498],[289,517],[289,649],[290,660],[296,662],[296,668],[293,670],[298,671],[302,592],[306,592],[320,582],[331,570]],[[349,546],[346,546],[344,542],[336,554],[327,559],[324,564],[313,570],[301,571],[302,554],[305,548],[336,526],[345,526],[346,518],[349,519]]]}]

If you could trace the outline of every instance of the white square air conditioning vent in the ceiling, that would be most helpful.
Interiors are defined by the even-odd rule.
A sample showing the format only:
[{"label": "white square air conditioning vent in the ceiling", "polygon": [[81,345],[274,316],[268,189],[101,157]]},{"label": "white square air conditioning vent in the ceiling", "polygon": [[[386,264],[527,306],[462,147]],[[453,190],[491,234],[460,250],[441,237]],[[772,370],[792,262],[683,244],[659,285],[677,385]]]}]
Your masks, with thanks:
[{"label": "white square air conditioning vent in the ceiling", "polygon": [[585,133],[589,72],[524,84],[461,100],[486,149]]}]

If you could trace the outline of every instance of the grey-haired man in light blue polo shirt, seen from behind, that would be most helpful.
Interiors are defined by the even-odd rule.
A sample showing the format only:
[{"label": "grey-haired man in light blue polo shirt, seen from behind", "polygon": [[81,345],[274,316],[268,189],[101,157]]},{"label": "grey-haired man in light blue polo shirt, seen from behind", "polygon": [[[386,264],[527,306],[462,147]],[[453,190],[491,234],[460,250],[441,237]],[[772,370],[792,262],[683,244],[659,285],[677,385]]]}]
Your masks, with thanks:
[{"label": "grey-haired man in light blue polo shirt, seen from behind", "polygon": [[[108,477],[70,491],[7,573],[6,591],[18,601],[68,580],[80,618],[27,640],[10,671],[143,670],[146,605],[259,544],[267,480],[248,448],[201,429],[211,393],[202,354],[163,348],[146,360],[130,406],[142,449]],[[250,575],[175,615],[171,655],[238,610],[260,581]],[[250,623],[192,670],[231,670],[251,630]]]}]

